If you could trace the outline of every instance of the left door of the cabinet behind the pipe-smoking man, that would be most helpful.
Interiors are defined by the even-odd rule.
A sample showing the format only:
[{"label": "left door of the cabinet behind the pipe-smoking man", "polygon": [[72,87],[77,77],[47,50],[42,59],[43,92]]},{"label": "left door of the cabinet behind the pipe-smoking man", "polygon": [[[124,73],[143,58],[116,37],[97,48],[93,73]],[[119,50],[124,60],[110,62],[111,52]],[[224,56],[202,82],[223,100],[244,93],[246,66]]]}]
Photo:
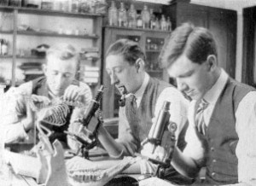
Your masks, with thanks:
[{"label": "left door of the cabinet behind the pipe-smoking man", "polygon": [[120,38],[128,38],[133,41],[136,41],[140,44],[141,47],[144,48],[144,38],[143,38],[143,32],[140,31],[129,31],[124,30],[120,28],[105,28],[104,32],[104,62],[103,62],[103,84],[107,89],[104,90],[103,94],[103,113],[104,118],[113,118],[118,117],[119,115],[119,90],[117,90],[114,85],[111,84],[110,77],[108,73],[106,72],[106,66],[105,66],[105,59],[106,59],[106,52],[108,50],[108,47],[113,44],[116,40]]}]

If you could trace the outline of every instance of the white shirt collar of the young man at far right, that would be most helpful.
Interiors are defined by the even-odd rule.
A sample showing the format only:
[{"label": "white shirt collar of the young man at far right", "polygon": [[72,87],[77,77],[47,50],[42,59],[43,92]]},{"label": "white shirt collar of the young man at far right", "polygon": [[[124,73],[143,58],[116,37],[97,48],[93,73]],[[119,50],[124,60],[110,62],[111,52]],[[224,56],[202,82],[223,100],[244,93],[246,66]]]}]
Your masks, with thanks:
[{"label": "white shirt collar of the young man at far right", "polygon": [[221,69],[221,73],[216,83],[213,84],[212,88],[207,91],[206,95],[204,96],[204,99],[210,104],[215,104],[222,90],[224,90],[224,86],[227,83],[228,78],[229,75],[224,71],[224,69]]}]

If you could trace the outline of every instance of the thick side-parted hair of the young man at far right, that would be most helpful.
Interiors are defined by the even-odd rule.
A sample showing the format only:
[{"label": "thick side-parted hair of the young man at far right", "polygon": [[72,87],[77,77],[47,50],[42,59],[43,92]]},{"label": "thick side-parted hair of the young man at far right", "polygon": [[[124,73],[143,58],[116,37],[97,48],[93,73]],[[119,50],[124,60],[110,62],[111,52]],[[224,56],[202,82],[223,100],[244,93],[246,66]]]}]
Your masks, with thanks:
[{"label": "thick side-parted hair of the young man at far right", "polygon": [[160,53],[163,67],[170,67],[181,55],[195,63],[207,61],[208,55],[217,55],[217,47],[212,33],[204,27],[183,23],[172,32]]}]

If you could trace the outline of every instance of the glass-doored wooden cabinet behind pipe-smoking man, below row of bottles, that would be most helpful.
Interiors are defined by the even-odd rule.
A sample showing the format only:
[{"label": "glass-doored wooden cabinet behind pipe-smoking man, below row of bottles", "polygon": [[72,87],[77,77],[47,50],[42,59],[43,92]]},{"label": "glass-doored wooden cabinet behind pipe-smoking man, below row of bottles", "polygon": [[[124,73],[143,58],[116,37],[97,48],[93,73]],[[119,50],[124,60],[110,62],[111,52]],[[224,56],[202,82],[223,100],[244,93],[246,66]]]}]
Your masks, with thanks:
[{"label": "glass-doored wooden cabinet behind pipe-smoking man, below row of bottles", "polygon": [[104,118],[117,117],[119,112],[119,91],[110,84],[110,77],[105,70],[106,51],[110,44],[113,44],[120,38],[128,38],[140,44],[146,54],[146,71],[154,78],[164,79],[169,82],[165,69],[161,69],[158,62],[160,49],[164,44],[166,37],[170,32],[131,29],[123,27],[106,26],[103,30],[104,34],[104,57],[102,60],[102,82],[107,87],[103,95],[103,113]]}]

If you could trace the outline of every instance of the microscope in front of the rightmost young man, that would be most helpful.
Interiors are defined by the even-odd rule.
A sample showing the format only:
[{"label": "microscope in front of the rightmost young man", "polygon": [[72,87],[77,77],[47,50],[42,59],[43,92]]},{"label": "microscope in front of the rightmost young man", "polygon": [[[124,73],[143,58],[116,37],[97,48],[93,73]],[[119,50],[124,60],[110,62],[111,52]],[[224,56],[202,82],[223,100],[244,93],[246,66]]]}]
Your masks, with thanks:
[{"label": "microscope in front of the rightmost young man", "polygon": [[171,165],[173,149],[176,143],[175,131],[177,130],[177,125],[175,123],[170,122],[170,108],[171,102],[164,102],[163,107],[160,109],[160,113],[154,124],[149,131],[148,137],[142,142],[142,146],[150,143],[153,146],[150,154],[154,154],[155,150],[158,146],[161,146],[162,140],[164,137],[164,133],[168,130],[169,140],[166,148],[166,156],[164,160],[157,160],[151,157],[147,157],[141,154],[137,154],[138,156],[142,156],[144,159],[151,161],[152,163],[158,165],[157,170],[154,173],[154,176],[161,177],[163,171]]}]

